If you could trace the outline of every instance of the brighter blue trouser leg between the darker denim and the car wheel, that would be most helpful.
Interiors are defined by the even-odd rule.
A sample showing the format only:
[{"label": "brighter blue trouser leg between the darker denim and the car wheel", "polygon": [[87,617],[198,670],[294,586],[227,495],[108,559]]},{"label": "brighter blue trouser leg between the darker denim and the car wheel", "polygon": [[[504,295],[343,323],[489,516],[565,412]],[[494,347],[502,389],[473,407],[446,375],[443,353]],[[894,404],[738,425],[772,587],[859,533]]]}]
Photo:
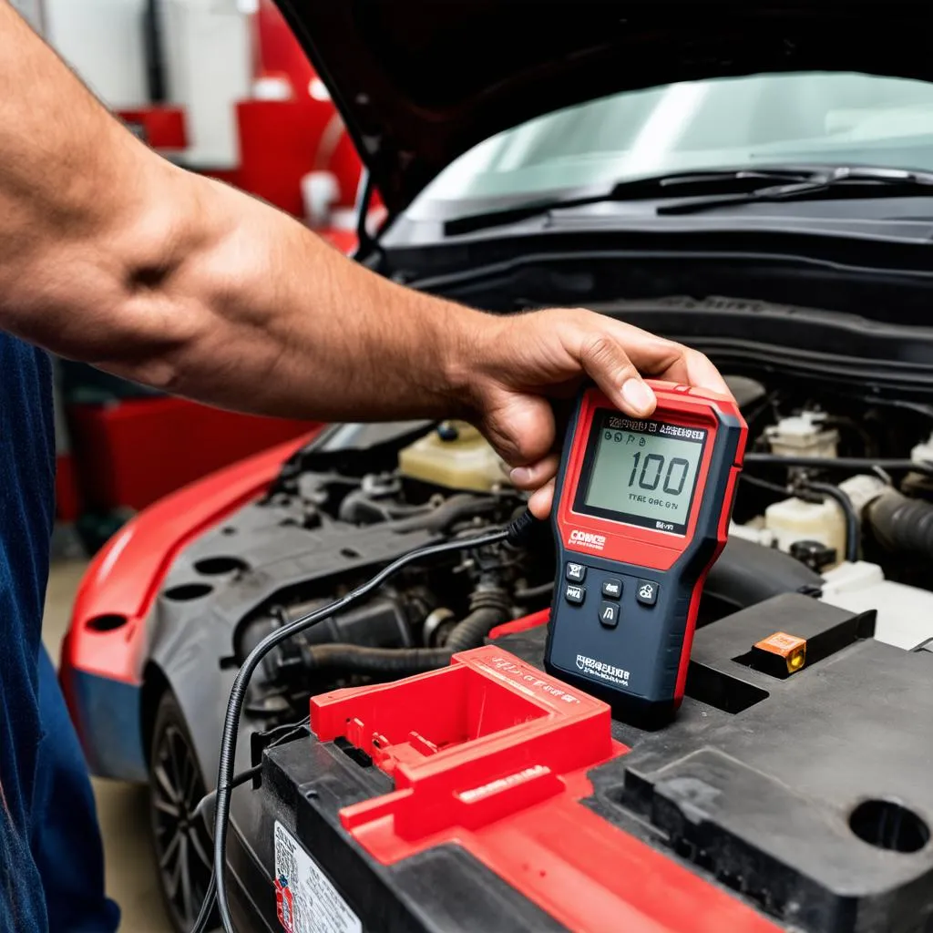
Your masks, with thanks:
[{"label": "brighter blue trouser leg between the darker denim and the car wheel", "polygon": [[104,895],[104,847],[91,780],[55,668],[39,648],[39,742],[30,847],[50,933],[113,933],[117,905]]}]

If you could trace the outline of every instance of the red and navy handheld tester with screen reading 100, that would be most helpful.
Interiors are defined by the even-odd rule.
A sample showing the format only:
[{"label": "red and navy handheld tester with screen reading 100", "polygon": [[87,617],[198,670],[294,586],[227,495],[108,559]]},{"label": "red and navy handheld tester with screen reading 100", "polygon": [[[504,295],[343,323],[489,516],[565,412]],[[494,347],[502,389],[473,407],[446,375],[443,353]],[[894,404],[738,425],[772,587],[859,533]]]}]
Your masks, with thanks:
[{"label": "red and navy handheld tester with screen reading 100", "polygon": [[726,396],[648,381],[647,419],[584,389],[552,522],[545,666],[622,718],[664,719],[687,680],[703,581],[726,543],[747,428]]}]

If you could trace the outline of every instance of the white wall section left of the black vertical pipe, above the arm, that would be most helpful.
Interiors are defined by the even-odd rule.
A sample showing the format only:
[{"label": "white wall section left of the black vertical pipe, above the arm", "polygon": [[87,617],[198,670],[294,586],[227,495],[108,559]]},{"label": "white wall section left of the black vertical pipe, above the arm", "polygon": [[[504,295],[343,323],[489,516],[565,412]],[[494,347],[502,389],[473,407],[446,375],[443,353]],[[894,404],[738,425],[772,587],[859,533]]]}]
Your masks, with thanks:
[{"label": "white wall section left of the black vertical pipe, above the arm", "polygon": [[148,99],[144,0],[45,0],[46,38],[104,104]]}]

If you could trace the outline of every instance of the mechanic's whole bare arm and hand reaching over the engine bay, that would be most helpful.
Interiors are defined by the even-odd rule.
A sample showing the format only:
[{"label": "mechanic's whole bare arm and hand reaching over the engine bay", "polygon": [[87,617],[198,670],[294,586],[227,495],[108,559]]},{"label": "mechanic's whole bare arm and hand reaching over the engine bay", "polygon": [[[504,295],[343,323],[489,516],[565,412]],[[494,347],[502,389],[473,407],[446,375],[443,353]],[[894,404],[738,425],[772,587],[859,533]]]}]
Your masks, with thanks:
[{"label": "mechanic's whole bare arm and hand reaching over the engine bay", "polygon": [[542,396],[569,394],[584,372],[635,415],[654,408],[639,370],[725,390],[702,355],[593,313],[496,318],[389,283],[272,207],[174,167],[6,0],[0,327],[244,411],[463,415],[526,488],[556,466]]}]

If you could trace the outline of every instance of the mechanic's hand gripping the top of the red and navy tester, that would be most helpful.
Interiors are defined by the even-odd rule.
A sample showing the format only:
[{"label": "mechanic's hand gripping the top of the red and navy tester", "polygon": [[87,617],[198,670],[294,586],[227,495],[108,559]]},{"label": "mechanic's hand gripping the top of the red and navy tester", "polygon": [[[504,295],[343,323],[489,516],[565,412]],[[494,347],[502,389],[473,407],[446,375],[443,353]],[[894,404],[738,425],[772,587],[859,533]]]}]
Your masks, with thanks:
[{"label": "mechanic's hand gripping the top of the red and navy tester", "polygon": [[642,374],[730,395],[701,353],[603,314],[555,309],[501,318],[476,341],[470,386],[476,422],[511,480],[535,490],[529,508],[550,511],[559,453],[550,398],[569,398],[589,377],[633,417],[657,404]]}]

